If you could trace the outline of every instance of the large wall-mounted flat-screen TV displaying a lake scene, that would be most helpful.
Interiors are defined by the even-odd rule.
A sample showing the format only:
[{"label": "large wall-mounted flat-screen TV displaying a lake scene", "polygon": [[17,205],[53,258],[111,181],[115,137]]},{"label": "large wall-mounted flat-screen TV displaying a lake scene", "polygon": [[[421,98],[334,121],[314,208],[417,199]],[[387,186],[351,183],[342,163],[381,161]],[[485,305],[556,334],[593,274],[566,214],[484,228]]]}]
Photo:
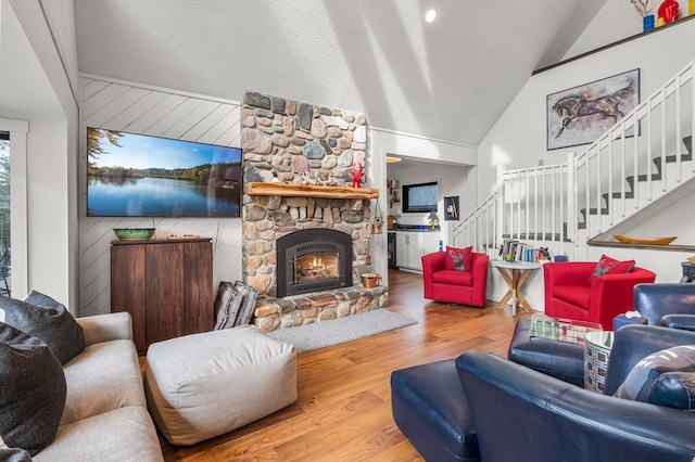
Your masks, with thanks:
[{"label": "large wall-mounted flat-screen TV displaying a lake scene", "polygon": [[241,150],[87,128],[88,217],[239,217]]}]

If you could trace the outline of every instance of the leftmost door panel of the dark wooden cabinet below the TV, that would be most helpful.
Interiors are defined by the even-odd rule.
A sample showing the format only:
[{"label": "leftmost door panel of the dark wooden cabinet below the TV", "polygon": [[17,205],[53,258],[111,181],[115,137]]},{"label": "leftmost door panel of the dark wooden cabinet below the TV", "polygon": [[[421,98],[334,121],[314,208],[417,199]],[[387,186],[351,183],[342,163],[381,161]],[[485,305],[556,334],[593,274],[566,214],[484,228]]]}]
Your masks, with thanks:
[{"label": "leftmost door panel of the dark wooden cabinet below the TV", "polygon": [[146,246],[111,247],[111,311],[127,311],[132,318],[132,342],[147,351]]}]

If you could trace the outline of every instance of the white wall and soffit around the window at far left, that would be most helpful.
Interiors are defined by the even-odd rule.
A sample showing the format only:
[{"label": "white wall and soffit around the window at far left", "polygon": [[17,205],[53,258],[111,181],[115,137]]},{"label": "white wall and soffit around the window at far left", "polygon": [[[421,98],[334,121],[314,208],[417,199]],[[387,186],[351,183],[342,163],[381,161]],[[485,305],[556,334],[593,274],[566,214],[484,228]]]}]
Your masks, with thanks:
[{"label": "white wall and soffit around the window at far left", "polygon": [[1,8],[0,117],[28,121],[26,178],[20,179],[26,181],[27,202],[12,204],[27,210],[27,256],[17,257],[26,258],[26,288],[75,310],[77,102],[40,2],[3,0]]}]

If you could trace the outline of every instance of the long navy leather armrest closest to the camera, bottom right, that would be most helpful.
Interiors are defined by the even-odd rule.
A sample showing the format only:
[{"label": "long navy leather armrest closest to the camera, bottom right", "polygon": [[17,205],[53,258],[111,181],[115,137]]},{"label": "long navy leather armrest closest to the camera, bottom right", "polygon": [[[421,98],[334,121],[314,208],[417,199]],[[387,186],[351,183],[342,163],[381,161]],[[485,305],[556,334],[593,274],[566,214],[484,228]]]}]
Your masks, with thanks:
[{"label": "long navy leather armrest closest to the camera, bottom right", "polygon": [[[583,389],[491,354],[467,352],[456,369],[481,460],[695,457],[695,419],[688,412]],[[587,457],[587,448],[596,453]]]}]

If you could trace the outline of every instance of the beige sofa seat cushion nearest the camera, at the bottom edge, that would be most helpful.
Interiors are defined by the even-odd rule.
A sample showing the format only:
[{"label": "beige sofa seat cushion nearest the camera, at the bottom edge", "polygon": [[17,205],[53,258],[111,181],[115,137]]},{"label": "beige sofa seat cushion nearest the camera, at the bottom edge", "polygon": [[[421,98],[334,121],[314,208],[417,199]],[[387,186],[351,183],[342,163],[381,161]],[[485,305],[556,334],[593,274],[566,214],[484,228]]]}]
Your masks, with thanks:
[{"label": "beige sofa seat cushion nearest the camera, at the bottom edge", "polygon": [[55,442],[34,458],[34,462],[162,460],[152,418],[140,406],[61,425]]}]

